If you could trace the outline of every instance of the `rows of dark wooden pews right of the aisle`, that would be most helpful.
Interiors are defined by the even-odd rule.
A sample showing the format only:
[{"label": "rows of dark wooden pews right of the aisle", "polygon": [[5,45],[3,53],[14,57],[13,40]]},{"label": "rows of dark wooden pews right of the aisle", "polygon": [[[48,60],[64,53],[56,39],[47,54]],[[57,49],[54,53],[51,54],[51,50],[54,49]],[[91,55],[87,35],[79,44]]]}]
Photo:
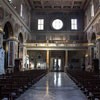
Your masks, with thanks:
[{"label": "rows of dark wooden pews right of the aisle", "polygon": [[100,100],[100,74],[82,70],[67,70],[68,75],[86,94],[88,100]]}]

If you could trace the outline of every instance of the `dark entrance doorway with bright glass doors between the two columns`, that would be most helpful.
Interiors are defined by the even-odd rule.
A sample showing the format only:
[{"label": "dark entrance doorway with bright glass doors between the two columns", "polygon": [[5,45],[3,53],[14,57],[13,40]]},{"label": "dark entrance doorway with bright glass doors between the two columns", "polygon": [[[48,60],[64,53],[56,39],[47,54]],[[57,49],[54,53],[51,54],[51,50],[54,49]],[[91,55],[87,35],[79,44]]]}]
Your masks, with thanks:
[{"label": "dark entrance doorway with bright glass doors between the two columns", "polygon": [[65,51],[50,51],[50,71],[64,71]]}]

